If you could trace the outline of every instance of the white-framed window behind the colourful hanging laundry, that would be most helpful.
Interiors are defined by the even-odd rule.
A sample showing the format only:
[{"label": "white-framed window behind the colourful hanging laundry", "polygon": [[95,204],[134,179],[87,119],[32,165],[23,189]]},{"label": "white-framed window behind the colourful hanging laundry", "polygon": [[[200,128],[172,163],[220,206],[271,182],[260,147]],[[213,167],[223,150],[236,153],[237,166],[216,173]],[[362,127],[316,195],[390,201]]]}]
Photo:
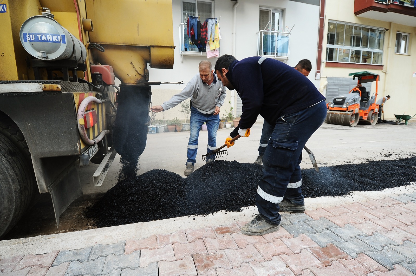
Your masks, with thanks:
[{"label": "white-framed window behind the colourful hanging laundry", "polygon": [[[198,20],[203,23],[207,18],[214,16],[214,1],[213,0],[183,0],[182,1],[182,24],[181,24],[181,51],[182,52],[199,52],[198,47],[189,42],[187,34],[188,26],[186,22],[188,15],[198,17]],[[203,51],[205,52],[205,51]]]}]

